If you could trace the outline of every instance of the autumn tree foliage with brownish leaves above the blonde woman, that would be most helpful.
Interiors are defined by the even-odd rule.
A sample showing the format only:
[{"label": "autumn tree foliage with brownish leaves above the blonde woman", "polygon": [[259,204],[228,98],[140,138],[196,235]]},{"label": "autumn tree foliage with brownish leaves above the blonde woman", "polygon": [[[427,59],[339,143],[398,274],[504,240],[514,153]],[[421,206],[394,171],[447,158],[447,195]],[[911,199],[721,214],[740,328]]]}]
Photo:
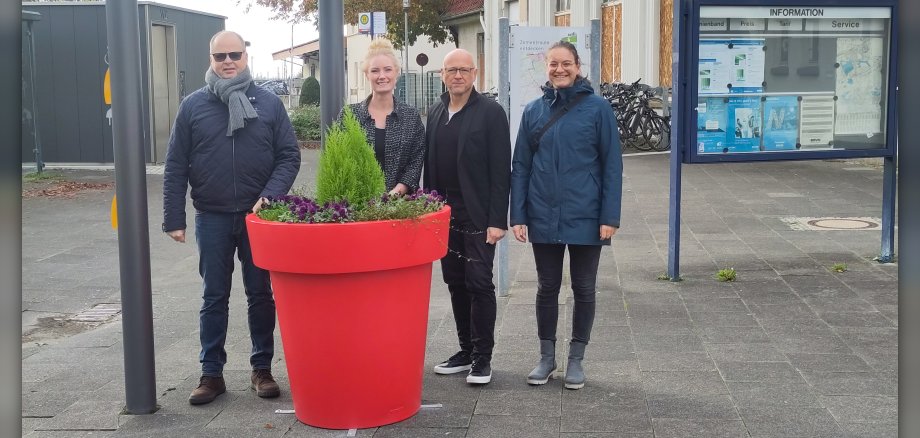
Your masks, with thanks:
[{"label": "autumn tree foliage with brownish leaves above the blonde woman", "polygon": [[[275,12],[275,19],[290,22],[312,20],[317,23],[318,0],[241,0],[254,2]],[[385,12],[387,15],[387,38],[397,49],[403,46],[404,20],[401,0],[344,0],[345,22],[358,23],[361,12]],[[253,3],[250,3],[251,6]],[[421,35],[437,44],[444,44],[451,36],[441,22],[441,14],[447,11],[450,0],[411,0],[409,8],[409,45]]]}]

